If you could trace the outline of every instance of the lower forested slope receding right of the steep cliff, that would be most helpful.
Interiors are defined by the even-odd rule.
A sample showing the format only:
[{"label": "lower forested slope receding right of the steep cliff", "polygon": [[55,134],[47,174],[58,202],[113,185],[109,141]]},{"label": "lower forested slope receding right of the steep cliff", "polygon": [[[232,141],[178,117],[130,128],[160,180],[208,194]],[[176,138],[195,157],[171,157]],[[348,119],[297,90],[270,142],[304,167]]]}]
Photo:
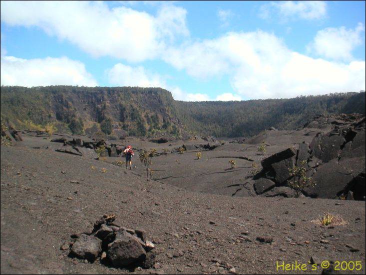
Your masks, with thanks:
[{"label": "lower forested slope receding right of the steep cliff", "polygon": [[296,129],[317,115],[365,114],[365,91],[290,99],[177,102],[185,128],[217,137],[251,136],[271,126]]}]

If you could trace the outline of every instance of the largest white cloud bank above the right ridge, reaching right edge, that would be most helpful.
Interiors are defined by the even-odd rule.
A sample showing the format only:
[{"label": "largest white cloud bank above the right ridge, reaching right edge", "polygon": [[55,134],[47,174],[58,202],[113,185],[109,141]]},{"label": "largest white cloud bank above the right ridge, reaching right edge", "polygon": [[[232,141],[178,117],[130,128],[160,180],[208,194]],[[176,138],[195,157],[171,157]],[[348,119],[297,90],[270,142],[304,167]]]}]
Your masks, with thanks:
[{"label": "largest white cloud bank above the right ridge, reaching right edge", "polygon": [[264,31],[230,32],[170,49],[164,59],[193,77],[227,75],[246,98],[289,98],[365,89],[365,61],[342,63],[290,50]]}]

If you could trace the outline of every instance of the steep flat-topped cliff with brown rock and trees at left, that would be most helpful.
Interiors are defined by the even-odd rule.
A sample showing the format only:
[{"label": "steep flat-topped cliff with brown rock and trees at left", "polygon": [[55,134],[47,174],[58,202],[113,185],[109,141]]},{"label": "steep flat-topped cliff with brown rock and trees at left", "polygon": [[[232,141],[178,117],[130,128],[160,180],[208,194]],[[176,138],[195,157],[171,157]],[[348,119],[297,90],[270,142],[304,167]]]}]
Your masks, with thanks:
[{"label": "steep flat-topped cliff with brown rock and trees at left", "polygon": [[1,118],[21,127],[24,121],[67,128],[81,121],[85,131],[110,120],[113,131],[133,135],[159,131],[179,133],[171,93],[161,88],[138,87],[1,87]]}]

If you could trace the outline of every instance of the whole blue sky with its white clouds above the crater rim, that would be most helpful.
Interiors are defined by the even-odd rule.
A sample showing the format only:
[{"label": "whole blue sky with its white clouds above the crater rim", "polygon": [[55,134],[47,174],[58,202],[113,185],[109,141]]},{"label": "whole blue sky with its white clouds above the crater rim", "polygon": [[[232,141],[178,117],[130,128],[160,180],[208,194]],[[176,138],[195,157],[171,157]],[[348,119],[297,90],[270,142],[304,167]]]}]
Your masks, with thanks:
[{"label": "whole blue sky with its white clouds above the crater rim", "polygon": [[1,1],[1,84],[178,100],[365,89],[365,1]]}]

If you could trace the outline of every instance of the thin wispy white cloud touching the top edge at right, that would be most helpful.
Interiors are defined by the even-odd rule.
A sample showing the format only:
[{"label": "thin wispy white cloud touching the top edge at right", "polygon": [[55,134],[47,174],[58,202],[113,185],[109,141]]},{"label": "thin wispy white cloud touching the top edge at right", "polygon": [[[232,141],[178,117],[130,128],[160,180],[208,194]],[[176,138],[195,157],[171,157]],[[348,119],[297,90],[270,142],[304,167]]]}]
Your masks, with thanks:
[{"label": "thin wispy white cloud touching the top edge at right", "polygon": [[288,19],[322,19],[327,15],[326,1],[277,1],[260,7],[259,16],[269,19],[273,15],[281,21]]}]

